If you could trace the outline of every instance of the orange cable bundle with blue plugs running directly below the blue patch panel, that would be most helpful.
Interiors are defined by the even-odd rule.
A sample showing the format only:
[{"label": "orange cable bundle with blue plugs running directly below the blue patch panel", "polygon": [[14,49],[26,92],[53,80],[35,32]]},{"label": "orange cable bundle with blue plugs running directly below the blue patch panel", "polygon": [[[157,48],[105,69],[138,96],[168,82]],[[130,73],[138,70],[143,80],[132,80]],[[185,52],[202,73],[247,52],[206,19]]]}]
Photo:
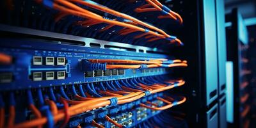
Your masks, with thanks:
[{"label": "orange cable bundle with blue plugs running directly below the blue patch panel", "polygon": [[[19,124],[15,123],[15,119],[17,119],[15,118],[15,106],[19,106],[20,104],[19,102],[15,103],[15,97],[18,97],[19,94],[10,92],[9,99],[1,99],[0,97],[2,106],[0,114],[4,114],[4,108],[6,108],[6,106],[10,107],[7,119],[8,124],[5,124],[4,121],[1,120],[0,125],[12,125],[12,127],[42,127],[43,125],[47,127],[65,127],[70,117],[79,115],[85,111],[107,105],[117,106],[118,104],[125,104],[154,93],[182,86],[185,83],[182,79],[173,79],[172,81],[164,79],[165,77],[161,76],[150,77],[150,79],[148,79],[148,77],[138,77],[114,81],[114,83],[113,81],[106,81],[104,83],[73,84],[67,86],[67,88],[63,88],[63,86],[56,87],[56,89],[52,89],[52,87],[44,88],[44,90],[38,88],[33,92],[26,90],[28,108],[31,110],[30,114],[35,116],[32,120]],[[124,81],[126,81],[125,84]],[[72,91],[70,92],[68,90]],[[157,99],[154,100],[162,100],[166,105],[160,106],[159,108],[151,108],[146,105],[150,103],[150,101],[147,101],[141,103],[141,107],[168,109],[175,105],[182,104],[186,100],[184,97],[172,99],[171,97],[157,97]],[[7,102],[8,105],[4,104],[4,102]],[[110,120],[107,115],[105,117],[106,121],[113,123],[117,127],[125,127],[116,124],[113,120]],[[63,122],[59,122],[60,120],[63,120]],[[95,127],[102,127],[99,126],[96,121],[92,121],[91,123],[91,125]],[[81,122],[79,125],[85,124]]]}]

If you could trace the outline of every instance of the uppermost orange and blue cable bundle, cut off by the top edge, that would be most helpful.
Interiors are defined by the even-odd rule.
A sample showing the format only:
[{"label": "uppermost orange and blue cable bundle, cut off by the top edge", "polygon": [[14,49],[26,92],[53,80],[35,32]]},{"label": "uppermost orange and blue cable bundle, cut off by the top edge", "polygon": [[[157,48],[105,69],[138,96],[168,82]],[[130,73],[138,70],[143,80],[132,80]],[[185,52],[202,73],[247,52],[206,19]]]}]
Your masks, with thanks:
[{"label": "uppermost orange and blue cable bundle, cut off by the top edge", "polygon": [[[173,22],[183,23],[179,13],[173,12],[167,6],[161,4],[157,0],[140,0],[140,1],[120,1],[120,0],[93,0],[100,4],[104,4],[109,8],[132,15],[141,20],[146,20],[152,24],[156,24],[161,28],[172,24]],[[170,20],[169,20],[170,19]],[[168,20],[168,22],[166,22]],[[176,24],[177,26],[177,24]]]}]

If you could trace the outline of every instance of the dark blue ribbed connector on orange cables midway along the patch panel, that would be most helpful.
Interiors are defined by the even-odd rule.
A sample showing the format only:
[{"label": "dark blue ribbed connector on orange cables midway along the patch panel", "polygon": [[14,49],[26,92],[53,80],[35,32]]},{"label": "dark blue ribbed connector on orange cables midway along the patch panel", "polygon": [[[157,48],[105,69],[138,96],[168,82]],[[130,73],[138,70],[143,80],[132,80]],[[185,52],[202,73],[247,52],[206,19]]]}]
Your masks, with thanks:
[{"label": "dark blue ribbed connector on orange cables midway along the patch panel", "polygon": [[81,60],[81,71],[107,70],[107,63],[91,63],[90,61]]}]

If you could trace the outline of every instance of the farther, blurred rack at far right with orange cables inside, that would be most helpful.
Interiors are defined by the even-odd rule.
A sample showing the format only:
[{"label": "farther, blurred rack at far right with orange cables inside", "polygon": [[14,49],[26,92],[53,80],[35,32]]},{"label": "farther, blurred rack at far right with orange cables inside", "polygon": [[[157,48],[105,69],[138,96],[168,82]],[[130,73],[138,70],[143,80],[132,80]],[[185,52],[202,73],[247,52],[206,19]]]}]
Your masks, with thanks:
[{"label": "farther, blurred rack at far right with orange cables inside", "polygon": [[[232,13],[226,15],[227,26],[227,61],[232,63],[230,67],[233,74],[229,74],[231,84],[228,86],[230,109],[227,113],[229,127],[249,127],[250,125],[250,74],[248,68],[248,35],[241,14],[235,8]],[[234,113],[234,115],[232,115]]]}]

